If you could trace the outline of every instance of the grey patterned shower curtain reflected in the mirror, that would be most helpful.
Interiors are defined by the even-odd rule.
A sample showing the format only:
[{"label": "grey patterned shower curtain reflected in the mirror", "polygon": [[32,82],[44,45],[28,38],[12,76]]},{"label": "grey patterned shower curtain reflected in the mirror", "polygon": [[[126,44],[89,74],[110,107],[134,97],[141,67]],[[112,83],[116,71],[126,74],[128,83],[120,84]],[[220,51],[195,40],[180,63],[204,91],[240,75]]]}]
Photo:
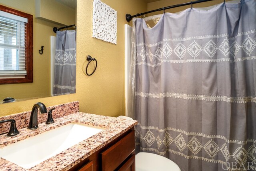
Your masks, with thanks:
[{"label": "grey patterned shower curtain reflected in the mirror", "polygon": [[76,92],[76,31],[57,31],[54,95]]}]

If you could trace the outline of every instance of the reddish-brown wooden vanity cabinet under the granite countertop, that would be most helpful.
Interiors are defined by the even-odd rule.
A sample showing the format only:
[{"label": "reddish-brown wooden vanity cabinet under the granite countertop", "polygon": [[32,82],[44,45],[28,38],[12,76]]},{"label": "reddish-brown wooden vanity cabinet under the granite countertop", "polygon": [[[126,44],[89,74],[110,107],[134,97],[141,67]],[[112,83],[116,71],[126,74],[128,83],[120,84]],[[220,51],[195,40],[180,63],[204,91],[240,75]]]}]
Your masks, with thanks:
[{"label": "reddish-brown wooden vanity cabinet under the granite countertop", "polygon": [[70,171],[135,171],[134,127],[75,165]]}]

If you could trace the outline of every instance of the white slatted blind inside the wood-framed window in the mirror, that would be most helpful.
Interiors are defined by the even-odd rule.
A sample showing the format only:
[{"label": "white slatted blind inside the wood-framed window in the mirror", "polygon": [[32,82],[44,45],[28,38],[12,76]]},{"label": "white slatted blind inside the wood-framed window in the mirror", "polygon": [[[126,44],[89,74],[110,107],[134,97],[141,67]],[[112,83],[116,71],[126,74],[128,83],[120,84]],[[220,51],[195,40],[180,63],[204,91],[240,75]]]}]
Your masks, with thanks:
[{"label": "white slatted blind inside the wood-framed window in the mirror", "polygon": [[0,76],[25,76],[27,18],[0,11]]}]

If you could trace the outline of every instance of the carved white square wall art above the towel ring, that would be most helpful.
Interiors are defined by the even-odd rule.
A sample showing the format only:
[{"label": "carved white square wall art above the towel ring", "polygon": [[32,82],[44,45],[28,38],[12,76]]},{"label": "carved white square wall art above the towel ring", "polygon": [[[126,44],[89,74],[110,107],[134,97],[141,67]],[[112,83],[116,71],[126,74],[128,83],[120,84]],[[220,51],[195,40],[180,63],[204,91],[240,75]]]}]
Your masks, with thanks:
[{"label": "carved white square wall art above the towel ring", "polygon": [[93,1],[92,37],[116,44],[117,12],[100,0]]}]

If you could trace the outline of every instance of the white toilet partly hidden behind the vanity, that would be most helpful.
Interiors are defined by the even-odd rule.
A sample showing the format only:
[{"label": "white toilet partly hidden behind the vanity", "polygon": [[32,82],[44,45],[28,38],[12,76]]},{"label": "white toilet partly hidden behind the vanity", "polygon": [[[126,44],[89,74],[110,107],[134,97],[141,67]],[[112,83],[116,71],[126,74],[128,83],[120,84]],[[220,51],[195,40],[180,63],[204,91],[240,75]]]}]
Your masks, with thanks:
[{"label": "white toilet partly hidden behind the vanity", "polygon": [[[120,119],[133,120],[130,117],[118,116]],[[180,171],[176,163],[153,153],[140,152],[135,156],[136,171]]]}]

